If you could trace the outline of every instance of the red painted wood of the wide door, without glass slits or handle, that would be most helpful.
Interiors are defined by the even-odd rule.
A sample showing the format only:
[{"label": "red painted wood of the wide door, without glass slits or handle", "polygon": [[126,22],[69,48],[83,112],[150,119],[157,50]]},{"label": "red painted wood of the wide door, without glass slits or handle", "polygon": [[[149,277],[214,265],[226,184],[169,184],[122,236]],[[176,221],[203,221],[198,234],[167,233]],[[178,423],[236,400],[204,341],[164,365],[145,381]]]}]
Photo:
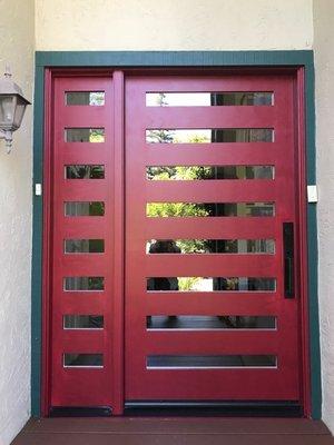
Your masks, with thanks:
[{"label": "red painted wood of the wide door, without glass slits or handle", "polygon": [[[282,225],[296,221],[291,76],[138,76],[126,81],[126,399],[301,400],[299,293],[283,296]],[[273,107],[146,107],[147,91],[274,91]],[[274,142],[145,141],[149,128],[274,128]],[[155,182],[147,166],[273,165],[275,180]],[[275,201],[273,218],[147,218],[148,201]],[[151,255],[147,239],[272,238],[271,255]],[[275,293],[147,293],[146,277],[276,277]],[[275,315],[277,330],[147,330],[148,315]],[[273,354],[273,369],[147,369],[148,355]]]}]

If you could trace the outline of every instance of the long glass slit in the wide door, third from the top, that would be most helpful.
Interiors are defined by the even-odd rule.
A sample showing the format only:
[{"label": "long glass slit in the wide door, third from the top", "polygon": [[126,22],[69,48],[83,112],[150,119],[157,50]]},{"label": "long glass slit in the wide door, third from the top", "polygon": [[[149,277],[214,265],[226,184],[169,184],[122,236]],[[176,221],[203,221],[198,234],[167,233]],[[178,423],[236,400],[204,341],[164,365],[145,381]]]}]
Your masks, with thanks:
[{"label": "long glass slit in the wide door, third from the top", "polygon": [[274,179],[273,166],[150,166],[148,180]]}]

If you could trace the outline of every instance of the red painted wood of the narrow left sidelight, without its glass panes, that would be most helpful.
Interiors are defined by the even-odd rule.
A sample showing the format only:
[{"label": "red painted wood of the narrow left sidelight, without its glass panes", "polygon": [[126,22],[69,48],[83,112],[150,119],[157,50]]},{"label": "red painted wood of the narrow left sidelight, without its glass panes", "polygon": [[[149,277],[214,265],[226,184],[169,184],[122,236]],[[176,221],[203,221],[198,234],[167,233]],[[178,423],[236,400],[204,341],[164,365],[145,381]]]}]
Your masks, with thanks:
[{"label": "red painted wood of the narrow left sidelight, without its glass panes", "polygon": [[[102,107],[66,106],[66,91],[105,91]],[[115,323],[115,303],[119,295],[120,277],[114,275],[115,218],[119,204],[115,202],[116,145],[114,126],[115,91],[112,78],[100,77],[55,77],[52,144],[50,164],[52,175],[51,202],[51,406],[111,406],[118,407],[119,395],[115,380],[119,378],[119,326]],[[65,128],[105,128],[102,144],[65,142]],[[118,147],[119,149],[119,147]],[[97,164],[105,166],[105,179],[65,179],[65,166],[71,164]],[[119,186],[118,186],[119,187]],[[117,190],[119,192],[119,189]],[[105,201],[104,217],[65,217],[63,202],[67,200]],[[70,238],[102,238],[104,254],[63,254],[63,240]],[[117,247],[119,250],[119,246]],[[118,260],[119,261],[119,260]],[[102,291],[65,291],[66,276],[104,276]],[[65,314],[102,315],[102,330],[65,330]],[[119,315],[118,315],[119,316]],[[63,353],[101,353],[104,368],[63,368]],[[117,354],[117,359],[114,355]]]}]

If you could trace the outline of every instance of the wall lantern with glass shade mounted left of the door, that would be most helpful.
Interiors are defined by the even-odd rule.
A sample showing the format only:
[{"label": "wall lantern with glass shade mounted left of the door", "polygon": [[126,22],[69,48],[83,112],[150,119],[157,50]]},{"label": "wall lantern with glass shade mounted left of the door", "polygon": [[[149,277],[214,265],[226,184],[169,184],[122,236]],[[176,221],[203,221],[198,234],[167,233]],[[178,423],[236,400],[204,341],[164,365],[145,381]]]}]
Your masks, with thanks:
[{"label": "wall lantern with glass shade mounted left of the door", "polygon": [[12,145],[12,132],[20,128],[27,105],[21,88],[11,80],[9,69],[0,79],[0,139],[6,140],[7,152]]}]

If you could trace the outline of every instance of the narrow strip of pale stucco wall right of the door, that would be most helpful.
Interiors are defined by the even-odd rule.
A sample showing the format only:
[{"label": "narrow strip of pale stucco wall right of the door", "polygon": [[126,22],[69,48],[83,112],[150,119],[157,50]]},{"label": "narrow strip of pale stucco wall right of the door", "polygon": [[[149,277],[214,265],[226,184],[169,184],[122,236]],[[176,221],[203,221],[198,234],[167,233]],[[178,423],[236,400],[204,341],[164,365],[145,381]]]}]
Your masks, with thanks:
[{"label": "narrow strip of pale stucco wall right of the door", "polygon": [[334,433],[334,34],[333,0],[314,1],[323,418]]}]

